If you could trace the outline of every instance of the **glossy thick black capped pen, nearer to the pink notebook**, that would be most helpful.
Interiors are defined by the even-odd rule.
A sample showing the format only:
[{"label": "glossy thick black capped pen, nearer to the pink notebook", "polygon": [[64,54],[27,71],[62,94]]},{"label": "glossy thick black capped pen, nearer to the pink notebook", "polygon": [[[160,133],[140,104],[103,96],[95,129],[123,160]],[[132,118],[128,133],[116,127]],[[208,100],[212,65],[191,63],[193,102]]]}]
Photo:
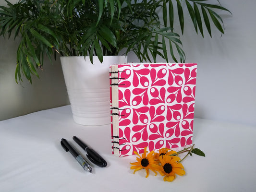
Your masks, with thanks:
[{"label": "glossy thick black capped pen, nearer to the pink notebook", "polygon": [[91,162],[93,162],[95,165],[98,165],[101,168],[104,168],[107,166],[107,162],[96,151],[90,148],[87,144],[82,142],[76,136],[73,136],[73,140],[85,150],[85,152],[87,153],[86,156]]}]

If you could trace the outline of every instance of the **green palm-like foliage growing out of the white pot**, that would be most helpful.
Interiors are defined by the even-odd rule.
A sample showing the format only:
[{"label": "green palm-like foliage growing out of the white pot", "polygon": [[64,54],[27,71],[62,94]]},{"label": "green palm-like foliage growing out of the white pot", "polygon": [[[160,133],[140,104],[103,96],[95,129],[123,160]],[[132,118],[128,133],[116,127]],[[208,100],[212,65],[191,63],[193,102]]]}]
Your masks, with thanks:
[{"label": "green palm-like foliage growing out of the white pot", "polygon": [[[223,22],[215,10],[229,12],[220,4],[207,0],[19,0],[0,6],[0,36],[21,38],[17,49],[15,80],[22,73],[32,83],[38,77],[44,56],[127,55],[133,51],[138,59],[156,62],[184,62],[180,35],[173,29],[178,17],[183,34],[183,8],[189,12],[195,31],[204,36],[203,24],[211,36],[211,24],[223,34]],[[219,3],[219,0],[216,1]],[[173,13],[177,9],[178,15]],[[200,11],[199,11],[200,10]],[[176,19],[176,18],[175,18]],[[212,22],[210,22],[210,20]],[[63,67],[63,66],[62,66]]]}]

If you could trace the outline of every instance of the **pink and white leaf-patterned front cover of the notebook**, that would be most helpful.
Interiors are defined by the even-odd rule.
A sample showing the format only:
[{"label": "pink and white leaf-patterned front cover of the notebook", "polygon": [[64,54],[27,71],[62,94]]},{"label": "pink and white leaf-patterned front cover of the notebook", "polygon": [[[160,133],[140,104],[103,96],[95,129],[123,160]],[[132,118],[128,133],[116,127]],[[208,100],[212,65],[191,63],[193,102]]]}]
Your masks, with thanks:
[{"label": "pink and white leaf-patterned front cover of the notebook", "polygon": [[192,144],[196,67],[196,63],[118,65],[119,108],[125,108],[119,117],[120,156],[143,153],[144,147],[155,151]]}]

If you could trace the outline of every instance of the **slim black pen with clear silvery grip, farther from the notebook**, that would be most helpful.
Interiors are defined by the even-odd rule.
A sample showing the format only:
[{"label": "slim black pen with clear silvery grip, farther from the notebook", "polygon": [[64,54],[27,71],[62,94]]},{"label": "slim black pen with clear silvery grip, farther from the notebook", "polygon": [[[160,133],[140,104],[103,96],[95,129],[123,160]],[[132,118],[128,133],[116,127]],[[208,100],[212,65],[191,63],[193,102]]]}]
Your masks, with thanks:
[{"label": "slim black pen with clear silvery grip, farther from the notebook", "polygon": [[73,157],[85,169],[85,171],[92,173],[90,164],[68,143],[66,139],[61,139],[61,146],[66,152],[69,151],[73,155]]}]

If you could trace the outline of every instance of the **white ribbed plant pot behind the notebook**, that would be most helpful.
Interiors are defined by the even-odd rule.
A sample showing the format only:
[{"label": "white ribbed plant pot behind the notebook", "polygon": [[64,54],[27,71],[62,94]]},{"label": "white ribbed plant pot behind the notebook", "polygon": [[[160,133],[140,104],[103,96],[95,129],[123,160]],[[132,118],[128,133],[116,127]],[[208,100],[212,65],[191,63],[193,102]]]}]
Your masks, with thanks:
[{"label": "white ribbed plant pot behind the notebook", "polygon": [[61,57],[73,120],[82,125],[110,124],[109,67],[126,63],[125,56]]}]

